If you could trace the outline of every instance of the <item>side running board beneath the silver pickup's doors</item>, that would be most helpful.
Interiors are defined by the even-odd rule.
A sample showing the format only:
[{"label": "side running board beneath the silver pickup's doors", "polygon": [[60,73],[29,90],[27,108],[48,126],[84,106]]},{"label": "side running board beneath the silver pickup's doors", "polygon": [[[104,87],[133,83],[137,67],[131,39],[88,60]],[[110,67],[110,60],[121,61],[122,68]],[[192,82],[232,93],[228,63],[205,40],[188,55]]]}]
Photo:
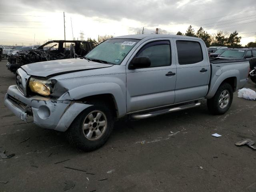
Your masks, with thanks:
[{"label": "side running board beneath the silver pickup's doors", "polygon": [[166,113],[170,113],[170,112],[181,111],[181,110],[184,110],[184,109],[198,107],[200,105],[201,105],[201,103],[197,102],[197,103],[186,104],[186,105],[182,105],[182,106],[178,106],[178,107],[174,107],[174,108],[149,112],[147,114],[132,114],[131,117],[133,119],[145,119],[145,118],[148,118],[148,117],[154,117],[154,116],[158,116],[158,115],[162,115],[162,114],[166,114]]}]

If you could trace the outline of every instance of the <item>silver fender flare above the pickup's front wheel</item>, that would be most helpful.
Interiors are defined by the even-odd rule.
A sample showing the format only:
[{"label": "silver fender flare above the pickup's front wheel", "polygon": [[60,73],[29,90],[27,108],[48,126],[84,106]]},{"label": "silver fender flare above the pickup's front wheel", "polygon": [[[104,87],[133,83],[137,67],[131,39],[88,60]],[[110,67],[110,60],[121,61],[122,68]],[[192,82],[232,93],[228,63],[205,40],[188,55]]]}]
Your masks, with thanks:
[{"label": "silver fender flare above the pickup's front wheel", "polygon": [[121,87],[113,82],[94,83],[73,88],[64,93],[58,100],[79,100],[84,97],[111,94],[117,107],[118,118],[126,115],[126,95]]}]

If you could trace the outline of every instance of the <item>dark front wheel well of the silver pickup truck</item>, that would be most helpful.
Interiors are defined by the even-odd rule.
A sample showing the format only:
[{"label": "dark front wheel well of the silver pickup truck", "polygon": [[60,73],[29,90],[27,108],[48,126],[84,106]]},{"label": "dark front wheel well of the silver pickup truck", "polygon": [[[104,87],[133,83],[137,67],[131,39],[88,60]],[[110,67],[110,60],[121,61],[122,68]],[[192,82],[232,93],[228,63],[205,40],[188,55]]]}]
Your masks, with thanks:
[{"label": "dark front wheel well of the silver pickup truck", "polygon": [[118,117],[118,108],[116,105],[116,100],[114,99],[114,96],[112,94],[92,95],[92,96],[81,98],[77,101],[88,102],[88,103],[103,102],[105,104],[108,104],[114,110],[114,114],[116,115],[116,117]]}]

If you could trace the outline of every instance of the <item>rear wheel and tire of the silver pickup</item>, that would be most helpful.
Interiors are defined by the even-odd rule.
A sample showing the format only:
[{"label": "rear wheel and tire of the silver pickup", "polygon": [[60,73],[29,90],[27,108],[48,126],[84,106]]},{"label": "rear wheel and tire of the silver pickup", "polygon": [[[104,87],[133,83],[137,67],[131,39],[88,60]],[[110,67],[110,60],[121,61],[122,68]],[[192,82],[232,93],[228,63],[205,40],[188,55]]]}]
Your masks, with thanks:
[{"label": "rear wheel and tire of the silver pickup", "polygon": [[[223,97],[224,95],[225,97]],[[232,86],[228,83],[222,83],[218,88],[218,90],[216,91],[214,97],[207,100],[207,107],[212,114],[220,115],[228,111],[228,109],[232,104],[232,101],[233,101]]]}]

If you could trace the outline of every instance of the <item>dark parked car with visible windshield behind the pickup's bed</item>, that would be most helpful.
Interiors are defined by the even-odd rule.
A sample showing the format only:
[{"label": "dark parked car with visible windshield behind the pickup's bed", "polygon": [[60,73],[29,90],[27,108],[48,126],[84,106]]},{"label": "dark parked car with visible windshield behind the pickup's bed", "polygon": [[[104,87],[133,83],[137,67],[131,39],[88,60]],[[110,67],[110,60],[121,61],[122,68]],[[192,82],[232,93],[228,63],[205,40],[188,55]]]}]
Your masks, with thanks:
[{"label": "dark parked car with visible windshield behind the pickup's bed", "polygon": [[256,66],[256,48],[229,49],[224,51],[217,58],[233,60],[245,59],[249,61],[250,68],[253,69]]}]

